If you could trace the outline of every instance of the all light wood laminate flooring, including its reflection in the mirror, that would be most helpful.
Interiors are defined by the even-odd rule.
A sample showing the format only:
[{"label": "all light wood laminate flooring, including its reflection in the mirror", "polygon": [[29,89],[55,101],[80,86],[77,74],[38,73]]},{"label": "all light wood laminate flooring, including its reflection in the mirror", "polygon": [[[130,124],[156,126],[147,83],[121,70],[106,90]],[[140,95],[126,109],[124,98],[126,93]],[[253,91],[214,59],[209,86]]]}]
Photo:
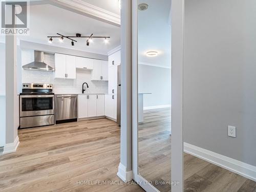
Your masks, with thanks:
[{"label": "all light wood laminate flooring, including its reflection in the mirror", "polygon": [[[140,173],[170,180],[169,109],[145,111],[139,130]],[[18,131],[17,152],[0,155],[0,191],[143,191],[138,185],[78,185],[77,181],[121,181],[120,127],[108,119]],[[185,154],[184,191],[256,192],[256,183]],[[168,185],[157,185],[170,191]]]}]

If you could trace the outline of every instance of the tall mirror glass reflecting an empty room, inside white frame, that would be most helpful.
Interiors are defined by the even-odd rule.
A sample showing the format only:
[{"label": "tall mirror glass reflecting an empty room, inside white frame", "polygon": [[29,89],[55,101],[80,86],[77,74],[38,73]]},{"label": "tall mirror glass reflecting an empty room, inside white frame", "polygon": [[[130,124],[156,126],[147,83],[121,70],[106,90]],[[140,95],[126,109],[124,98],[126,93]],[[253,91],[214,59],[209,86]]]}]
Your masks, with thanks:
[{"label": "tall mirror glass reflecting an empty room, inside white frame", "polygon": [[138,2],[138,167],[170,191],[170,1]]}]

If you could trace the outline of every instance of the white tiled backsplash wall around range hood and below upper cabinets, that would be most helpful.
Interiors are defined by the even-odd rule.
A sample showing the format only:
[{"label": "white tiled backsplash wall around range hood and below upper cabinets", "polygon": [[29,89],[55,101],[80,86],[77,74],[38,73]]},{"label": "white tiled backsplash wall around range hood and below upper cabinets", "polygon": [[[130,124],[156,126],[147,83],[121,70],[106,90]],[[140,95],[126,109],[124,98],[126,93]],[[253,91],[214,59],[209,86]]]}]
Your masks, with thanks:
[{"label": "white tiled backsplash wall around range hood and below upper cabinets", "polygon": [[[22,50],[22,65],[34,61],[34,50]],[[45,62],[54,67],[54,55],[45,53]],[[55,79],[54,72],[28,71],[22,69],[22,82],[52,83],[55,94],[82,92],[82,83],[87,82],[86,93],[108,93],[108,81],[91,81],[91,71],[77,69],[76,79]]]}]

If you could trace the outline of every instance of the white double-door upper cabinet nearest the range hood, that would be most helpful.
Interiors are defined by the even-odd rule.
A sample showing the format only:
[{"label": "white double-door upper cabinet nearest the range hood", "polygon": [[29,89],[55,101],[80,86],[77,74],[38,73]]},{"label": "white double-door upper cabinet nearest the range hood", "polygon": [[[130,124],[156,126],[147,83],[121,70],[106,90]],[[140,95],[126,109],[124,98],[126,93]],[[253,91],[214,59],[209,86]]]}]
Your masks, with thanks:
[{"label": "white double-door upper cabinet nearest the range hood", "polygon": [[55,78],[76,78],[76,58],[71,55],[55,53]]}]

